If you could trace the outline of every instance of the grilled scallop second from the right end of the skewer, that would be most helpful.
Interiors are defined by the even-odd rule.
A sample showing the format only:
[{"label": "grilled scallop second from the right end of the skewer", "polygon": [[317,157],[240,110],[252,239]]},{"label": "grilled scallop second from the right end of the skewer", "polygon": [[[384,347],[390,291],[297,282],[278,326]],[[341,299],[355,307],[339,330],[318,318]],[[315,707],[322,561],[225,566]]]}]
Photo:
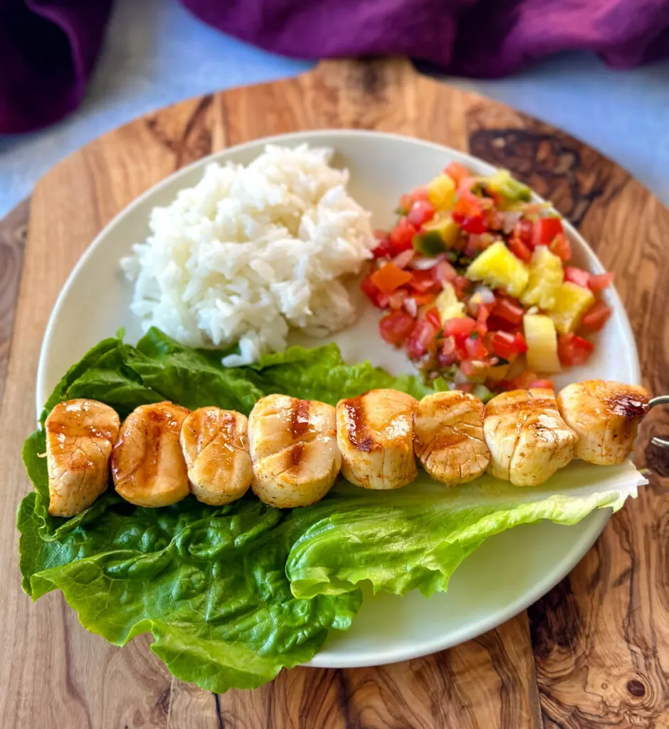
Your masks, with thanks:
[{"label": "grilled scallop second from the right end of the skewer", "polygon": [[539,486],[574,457],[576,433],[557,410],[549,389],[512,390],[485,406],[488,472],[515,486]]}]

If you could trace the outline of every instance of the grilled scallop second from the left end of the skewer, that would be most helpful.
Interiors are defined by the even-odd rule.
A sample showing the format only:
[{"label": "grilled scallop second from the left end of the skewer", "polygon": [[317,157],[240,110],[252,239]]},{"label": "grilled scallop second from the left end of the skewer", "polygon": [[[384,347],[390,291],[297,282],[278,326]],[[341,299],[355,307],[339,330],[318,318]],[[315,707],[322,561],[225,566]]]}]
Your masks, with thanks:
[{"label": "grilled scallop second from the left end of the skewer", "polygon": [[171,402],[140,405],[125,418],[111,452],[117,493],[137,506],[176,504],[188,496],[179,433],[189,411]]}]

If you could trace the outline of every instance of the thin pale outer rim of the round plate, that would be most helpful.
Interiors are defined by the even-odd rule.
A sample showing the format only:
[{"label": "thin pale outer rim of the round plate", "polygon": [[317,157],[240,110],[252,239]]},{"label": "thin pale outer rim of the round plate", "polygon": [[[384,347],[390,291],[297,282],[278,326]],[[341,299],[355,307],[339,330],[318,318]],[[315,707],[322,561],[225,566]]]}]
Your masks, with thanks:
[{"label": "thin pale outer rim of the round plate", "polygon": [[[189,165],[185,165],[184,167],[173,171],[173,173],[161,179],[156,184],[148,187],[146,190],[144,190],[144,192],[141,193],[141,195],[138,195],[137,198],[134,198],[130,203],[128,203],[127,206],[122,208],[122,210],[119,211],[97,235],[95,235],[95,238],[93,238],[93,241],[91,241],[91,243],[87,246],[85,251],[79,257],[79,260],[77,260],[77,263],[72,268],[69,276],[66,278],[66,281],[60,289],[58,297],[56,298],[51,313],[49,315],[47,326],[44,330],[42,346],[40,347],[39,351],[35,387],[35,407],[37,421],[39,422],[39,416],[40,413],[42,413],[44,402],[46,402],[46,399],[49,395],[49,392],[45,388],[45,371],[47,369],[45,363],[48,359],[50,344],[54,335],[54,330],[56,322],[59,318],[60,310],[63,308],[65,300],[69,295],[72,284],[74,283],[77,276],[79,276],[82,268],[84,268],[84,266],[87,264],[89,258],[93,255],[95,250],[98,249],[99,246],[101,246],[103,239],[106,238],[109,233],[111,233],[114,227],[119,225],[120,221],[126,215],[128,215],[130,211],[133,211],[134,208],[141,206],[145,202],[146,198],[149,198],[150,196],[154,195],[155,192],[162,190],[163,187],[173,183],[176,179],[179,179],[179,177],[186,176],[195,168],[205,168],[206,165],[217,162],[221,160],[221,158],[226,157],[230,154],[230,152],[243,152],[245,149],[249,149],[251,147],[262,147],[265,144],[289,144],[296,140],[303,141],[306,144],[316,144],[318,140],[328,138],[332,139],[333,136],[369,136],[381,137],[385,139],[394,139],[396,141],[402,141],[404,143],[418,144],[423,147],[431,147],[442,153],[447,152],[454,159],[461,161],[462,163],[469,163],[470,165],[474,165],[477,168],[485,167],[488,168],[488,170],[490,171],[496,169],[496,165],[492,165],[485,160],[482,160],[480,157],[470,155],[468,152],[461,152],[461,150],[450,147],[447,144],[440,144],[439,142],[431,141],[428,139],[421,139],[417,136],[367,129],[329,128],[318,130],[293,131],[272,136],[259,137],[258,139],[252,139],[241,144],[235,144],[231,147],[219,149],[218,151],[212,152],[205,157],[200,157],[200,159],[194,160],[192,163],[189,163]],[[332,147],[335,152],[337,151],[336,144],[332,144],[331,142],[324,143],[323,146]],[[544,200],[544,198],[541,198],[540,195],[537,195],[534,191],[532,192],[532,195],[533,199],[537,201],[546,201]],[[590,257],[595,271],[598,273],[602,273],[605,269],[603,268],[603,265],[600,262],[595,251],[590,247],[585,238],[581,235],[581,233],[579,233],[578,230],[576,230],[571,222],[569,222],[564,217],[562,218],[566,231],[568,233],[568,237],[571,238],[571,240],[577,241],[579,243],[579,246],[582,246],[582,248],[587,252],[588,256]],[[611,299],[611,303],[613,303],[614,305],[614,308],[622,313],[622,321],[620,322],[620,326],[622,327],[622,330],[624,330],[624,332],[621,333],[624,333],[625,338],[633,343],[633,351],[630,353],[632,355],[633,362],[633,378],[631,378],[631,384],[639,384],[641,383],[641,364],[639,362],[638,348],[636,346],[636,341],[630,324],[629,316],[627,316],[625,305],[622,303],[622,299],[620,298],[617,289],[615,289],[615,286],[612,286],[611,289],[609,289],[609,297]],[[598,539],[604,527],[606,526],[606,523],[609,522],[609,519],[611,518],[611,510],[608,508],[600,509],[592,514],[590,518],[592,524],[582,535],[581,539],[579,539],[579,541],[571,547],[566,556],[557,563],[559,569],[555,569],[556,565],[554,564],[551,571],[547,574],[547,578],[536,582],[536,584],[533,585],[532,590],[525,591],[525,593],[523,593],[523,595],[521,595],[517,600],[513,601],[510,604],[504,605],[504,607],[498,609],[496,612],[488,613],[485,618],[482,618],[476,623],[470,622],[466,625],[465,628],[461,628],[459,631],[451,631],[447,639],[431,639],[429,642],[423,641],[420,644],[417,644],[415,647],[412,647],[412,649],[403,648],[402,650],[393,650],[392,648],[389,648],[386,650],[380,650],[376,652],[375,655],[377,655],[377,658],[375,658],[374,660],[368,658],[351,660],[350,658],[346,658],[345,655],[329,653],[325,646],[325,650],[321,650],[310,661],[308,661],[308,663],[304,663],[302,665],[312,666],[314,668],[363,668],[367,666],[383,666],[387,663],[396,663],[397,661],[420,658],[424,655],[430,655],[431,653],[445,650],[447,648],[453,647],[455,645],[471,640],[477,636],[480,636],[492,628],[498,627],[498,625],[501,625],[502,623],[506,622],[506,620],[509,620],[512,617],[515,617],[515,615],[518,615],[520,612],[523,612],[523,610],[527,609],[531,604],[533,604],[535,601],[548,593],[549,590],[555,587],[555,585],[557,585],[560,580],[563,580],[564,577],[566,577],[566,575],[571,572],[572,569],[574,569],[574,566],[576,566],[576,564],[581,561],[585,553],[587,553],[590,547],[592,547],[592,545]]]}]

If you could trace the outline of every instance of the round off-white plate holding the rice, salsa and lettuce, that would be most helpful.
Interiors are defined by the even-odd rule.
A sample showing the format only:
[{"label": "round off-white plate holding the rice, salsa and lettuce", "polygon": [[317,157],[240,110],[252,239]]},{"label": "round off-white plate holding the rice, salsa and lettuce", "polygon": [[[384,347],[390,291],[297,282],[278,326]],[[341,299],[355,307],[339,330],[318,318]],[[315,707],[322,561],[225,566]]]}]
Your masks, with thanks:
[{"label": "round off-white plate holding the rice, salsa and lettuce", "polygon": [[[182,187],[195,184],[211,160],[249,163],[267,141],[307,142],[333,147],[334,164],[351,171],[351,194],[374,215],[374,227],[388,227],[399,195],[437,174],[452,160],[482,174],[493,168],[469,155],[426,141],[358,130],[315,131],[262,139],[232,147],[184,168],[153,187],[117,216],[85,252],[71,273],[52,312],[37,375],[36,408],[68,367],[99,340],[125,327],[127,338],[141,336],[128,305],[131,287],[118,270],[118,260],[130,246],[146,238],[149,212],[165,205]],[[574,262],[588,270],[603,270],[587,243],[567,226]],[[640,373],[630,323],[616,292],[606,303],[614,309],[586,367],[559,378],[569,381],[606,378],[638,383]],[[370,359],[393,373],[410,371],[401,352],[380,340],[378,312],[363,307],[351,329],[334,338],[349,362]],[[314,341],[313,344],[317,343]],[[375,666],[416,658],[482,634],[539,599],[579,561],[600,534],[608,510],[590,515],[576,526],[540,523],[522,526],[488,539],[453,575],[447,593],[430,599],[419,593],[404,598],[368,597],[351,630],[332,634],[310,665],[327,668]]]}]

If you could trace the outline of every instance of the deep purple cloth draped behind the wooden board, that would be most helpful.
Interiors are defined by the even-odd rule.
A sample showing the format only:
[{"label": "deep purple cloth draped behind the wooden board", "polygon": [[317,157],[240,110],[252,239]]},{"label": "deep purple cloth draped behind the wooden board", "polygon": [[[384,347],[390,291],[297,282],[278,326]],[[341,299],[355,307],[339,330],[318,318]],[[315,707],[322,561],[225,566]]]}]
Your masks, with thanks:
[{"label": "deep purple cloth draped behind the wooden board", "polygon": [[[44,127],[81,103],[111,2],[0,0],[0,133]],[[621,69],[669,56],[669,0],[183,2],[224,33],[297,58],[401,54],[498,77],[563,50]]]}]

